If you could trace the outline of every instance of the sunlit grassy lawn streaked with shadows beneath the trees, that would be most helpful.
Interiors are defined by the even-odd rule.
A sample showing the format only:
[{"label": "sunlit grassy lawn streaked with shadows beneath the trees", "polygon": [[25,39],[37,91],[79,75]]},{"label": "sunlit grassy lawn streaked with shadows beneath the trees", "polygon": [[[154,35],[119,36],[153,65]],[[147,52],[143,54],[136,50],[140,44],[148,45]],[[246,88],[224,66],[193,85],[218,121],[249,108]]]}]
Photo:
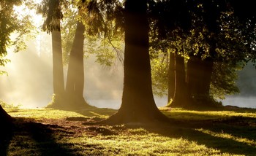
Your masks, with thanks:
[{"label": "sunlit grassy lawn streaked with shadows beneath the trees", "polygon": [[7,109],[15,128],[0,155],[256,155],[255,109],[159,109],[170,124],[89,124],[113,109]]}]

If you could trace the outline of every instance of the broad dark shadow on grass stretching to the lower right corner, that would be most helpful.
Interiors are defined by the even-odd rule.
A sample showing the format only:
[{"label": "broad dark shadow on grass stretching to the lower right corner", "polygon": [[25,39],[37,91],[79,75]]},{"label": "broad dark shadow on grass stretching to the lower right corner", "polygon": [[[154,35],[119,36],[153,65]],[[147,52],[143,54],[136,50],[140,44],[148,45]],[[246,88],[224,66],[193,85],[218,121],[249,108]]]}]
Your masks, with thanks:
[{"label": "broad dark shadow on grass stretching to the lower right corner", "polygon": [[[255,155],[256,153],[255,127],[239,127],[224,123],[193,124],[175,121],[171,124],[154,125],[154,127],[146,126],[143,128],[148,130],[148,132],[158,133],[161,136],[195,141],[197,144],[204,145],[208,148],[218,149],[222,153],[232,155]],[[244,133],[241,132],[243,128],[246,129]],[[211,131],[212,133],[204,133],[204,130]],[[215,135],[217,133],[220,135]],[[227,134],[237,138],[249,139],[254,141],[254,144],[246,144],[236,139],[222,137],[222,134],[223,136]]]}]

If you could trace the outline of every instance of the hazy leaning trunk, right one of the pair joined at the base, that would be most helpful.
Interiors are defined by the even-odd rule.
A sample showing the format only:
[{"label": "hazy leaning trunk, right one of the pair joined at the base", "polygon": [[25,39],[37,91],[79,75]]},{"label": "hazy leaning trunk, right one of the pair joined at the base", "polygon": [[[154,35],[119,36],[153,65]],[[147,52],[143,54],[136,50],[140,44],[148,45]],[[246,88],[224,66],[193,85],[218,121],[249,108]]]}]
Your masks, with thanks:
[{"label": "hazy leaning trunk, right one of the pair joined at the base", "polygon": [[78,22],[75,31],[75,39],[69,56],[69,66],[67,71],[67,107],[83,108],[89,106],[83,98],[84,87],[84,67],[83,67],[83,41],[85,27]]}]

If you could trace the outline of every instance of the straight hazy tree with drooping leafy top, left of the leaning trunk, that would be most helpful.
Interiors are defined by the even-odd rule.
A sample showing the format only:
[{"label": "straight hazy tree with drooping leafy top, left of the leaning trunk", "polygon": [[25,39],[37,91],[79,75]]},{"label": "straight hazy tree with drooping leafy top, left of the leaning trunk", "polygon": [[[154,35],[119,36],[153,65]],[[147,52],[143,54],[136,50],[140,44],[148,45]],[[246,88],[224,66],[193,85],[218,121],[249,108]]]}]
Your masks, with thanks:
[{"label": "straight hazy tree with drooping leafy top, left of the leaning trunk", "polygon": [[51,33],[53,49],[53,101],[52,104],[61,103],[64,97],[64,71],[61,47],[61,12],[60,0],[43,0],[38,7],[38,13],[45,18],[42,30]]}]

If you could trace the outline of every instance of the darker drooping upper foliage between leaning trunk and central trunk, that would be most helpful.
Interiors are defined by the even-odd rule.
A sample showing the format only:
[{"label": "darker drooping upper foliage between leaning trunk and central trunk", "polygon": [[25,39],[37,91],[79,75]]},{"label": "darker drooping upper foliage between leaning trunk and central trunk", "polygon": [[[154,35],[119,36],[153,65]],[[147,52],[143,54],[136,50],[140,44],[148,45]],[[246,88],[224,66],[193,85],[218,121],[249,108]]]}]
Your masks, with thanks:
[{"label": "darker drooping upper foliage between leaning trunk and central trunk", "polygon": [[[86,24],[86,33],[95,36],[113,36],[123,32],[124,2],[118,0],[89,1],[83,3],[82,15]],[[118,33],[119,34],[119,33]]]}]

